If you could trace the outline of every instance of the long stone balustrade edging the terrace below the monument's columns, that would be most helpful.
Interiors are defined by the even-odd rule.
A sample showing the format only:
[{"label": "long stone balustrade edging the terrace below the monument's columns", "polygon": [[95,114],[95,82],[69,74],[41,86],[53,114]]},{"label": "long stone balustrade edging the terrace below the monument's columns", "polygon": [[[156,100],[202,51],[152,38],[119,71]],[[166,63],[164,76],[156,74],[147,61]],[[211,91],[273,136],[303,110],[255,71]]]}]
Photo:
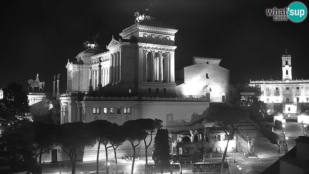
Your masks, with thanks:
[{"label": "long stone balustrade edging the terrace below the monument's columns", "polygon": [[165,98],[165,97],[91,97],[84,96],[84,101],[203,101],[209,102],[208,98]]}]

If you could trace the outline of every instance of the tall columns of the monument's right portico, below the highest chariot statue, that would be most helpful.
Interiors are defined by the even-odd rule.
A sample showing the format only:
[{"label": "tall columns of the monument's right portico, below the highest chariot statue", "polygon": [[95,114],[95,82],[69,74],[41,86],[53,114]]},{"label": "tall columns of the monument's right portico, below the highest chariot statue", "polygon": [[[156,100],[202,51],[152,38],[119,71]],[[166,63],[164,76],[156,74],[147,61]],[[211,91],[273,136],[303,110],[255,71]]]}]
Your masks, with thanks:
[{"label": "tall columns of the monument's right portico, below the highest chariot statue", "polygon": [[[173,65],[171,65],[171,57],[170,52],[163,53],[162,51],[147,51],[143,50],[144,58],[143,58],[143,80],[146,82],[150,80],[151,82],[174,82],[174,78],[171,76],[170,72],[174,71]],[[150,67],[147,67],[147,55],[150,53]],[[159,57],[155,57],[156,53]],[[172,60],[174,61],[174,60]],[[147,72],[147,68],[150,68],[150,74]],[[173,81],[174,80],[174,81]]]}]

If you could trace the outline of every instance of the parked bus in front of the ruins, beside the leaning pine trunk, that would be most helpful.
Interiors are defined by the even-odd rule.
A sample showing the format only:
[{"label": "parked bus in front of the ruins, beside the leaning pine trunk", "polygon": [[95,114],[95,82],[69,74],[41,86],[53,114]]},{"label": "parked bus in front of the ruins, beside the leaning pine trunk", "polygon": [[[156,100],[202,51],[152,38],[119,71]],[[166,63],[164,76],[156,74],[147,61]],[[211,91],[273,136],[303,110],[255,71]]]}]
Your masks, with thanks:
[{"label": "parked bus in front of the ruins, beside the leaning pine trunk", "polygon": [[[220,172],[221,162],[197,162],[192,165],[192,172]],[[227,162],[223,163],[223,172],[229,171],[229,164]]]}]

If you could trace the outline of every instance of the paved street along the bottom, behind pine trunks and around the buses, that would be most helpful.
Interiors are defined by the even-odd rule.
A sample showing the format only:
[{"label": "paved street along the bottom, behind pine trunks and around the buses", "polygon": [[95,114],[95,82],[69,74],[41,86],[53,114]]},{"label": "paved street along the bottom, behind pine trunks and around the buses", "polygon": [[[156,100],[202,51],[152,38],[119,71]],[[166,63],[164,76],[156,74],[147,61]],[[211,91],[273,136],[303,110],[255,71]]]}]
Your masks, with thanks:
[{"label": "paved street along the bottom, behind pine trunks and around the buses", "polygon": [[[231,163],[231,173],[239,173],[239,174],[259,174],[261,173],[265,168],[269,167],[271,164],[273,164],[277,159],[280,157],[274,156],[269,158],[236,158],[235,163],[232,160]],[[124,173],[131,173],[131,166],[132,161],[125,161],[123,159],[117,159],[118,160],[118,173],[121,173],[122,171]],[[207,159],[205,162],[221,162],[221,159]],[[153,163],[152,160],[148,160],[148,163]],[[241,167],[241,170],[239,170],[239,167]],[[182,173],[193,173],[192,172],[192,163],[182,163]],[[115,161],[110,160],[110,171],[115,171]],[[50,164],[44,164],[42,165],[43,173],[44,174],[56,174],[59,172],[59,163],[50,163]],[[135,161],[134,163],[134,172],[135,174],[144,173],[145,169],[145,161]],[[95,173],[96,172],[96,162],[86,162],[86,163],[77,163],[76,164],[76,171],[77,174],[87,174],[87,173]],[[69,174],[71,173],[71,165],[66,162],[61,163],[61,174]],[[106,173],[106,166],[105,161],[99,162],[99,173],[105,174]]]}]

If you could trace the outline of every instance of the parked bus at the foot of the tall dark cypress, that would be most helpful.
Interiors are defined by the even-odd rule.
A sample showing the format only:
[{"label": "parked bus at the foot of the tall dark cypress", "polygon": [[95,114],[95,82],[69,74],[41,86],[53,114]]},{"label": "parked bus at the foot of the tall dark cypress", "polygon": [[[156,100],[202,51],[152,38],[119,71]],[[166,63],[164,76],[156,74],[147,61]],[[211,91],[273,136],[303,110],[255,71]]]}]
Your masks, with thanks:
[{"label": "parked bus at the foot of the tall dark cypress", "polygon": [[162,168],[161,165],[158,164],[148,164],[147,168],[148,173],[161,173],[161,169],[163,170],[163,173],[171,173],[171,166],[173,166],[173,173],[182,174],[180,163],[164,164]]}]

